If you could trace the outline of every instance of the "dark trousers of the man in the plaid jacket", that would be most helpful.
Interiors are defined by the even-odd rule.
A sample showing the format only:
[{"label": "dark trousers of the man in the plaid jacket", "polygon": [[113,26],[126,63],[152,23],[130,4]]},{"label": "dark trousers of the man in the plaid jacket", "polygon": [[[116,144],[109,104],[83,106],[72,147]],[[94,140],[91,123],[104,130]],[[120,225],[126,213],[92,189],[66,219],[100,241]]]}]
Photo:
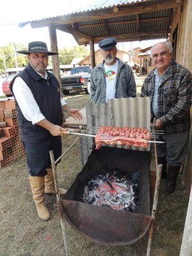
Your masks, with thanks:
[{"label": "dark trousers of the man in the plaid jacket", "polygon": [[157,144],[157,156],[166,157],[171,166],[181,166],[182,161],[188,156],[189,131],[163,134],[157,141],[165,142]]}]

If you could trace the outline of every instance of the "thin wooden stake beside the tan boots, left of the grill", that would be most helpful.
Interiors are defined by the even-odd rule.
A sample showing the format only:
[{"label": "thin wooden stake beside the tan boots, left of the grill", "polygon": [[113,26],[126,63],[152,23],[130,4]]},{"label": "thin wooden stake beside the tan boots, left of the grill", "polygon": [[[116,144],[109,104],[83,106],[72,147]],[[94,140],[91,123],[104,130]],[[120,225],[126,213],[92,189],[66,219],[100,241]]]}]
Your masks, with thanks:
[{"label": "thin wooden stake beside the tan boots, left of the grill", "polygon": [[60,222],[61,222],[61,229],[62,229],[62,234],[63,234],[63,241],[64,241],[64,246],[65,246],[65,255],[69,256],[68,253],[68,246],[67,246],[67,235],[66,235],[66,230],[65,230],[65,223],[63,220],[63,214],[60,211],[60,193],[58,193],[58,179],[56,175],[56,163],[54,161],[54,156],[52,150],[49,151],[49,155],[51,158],[51,165],[52,165],[52,173],[54,177],[54,187],[56,191],[56,198],[57,198],[57,203],[58,203],[58,212],[59,212],[59,217],[60,217]]}]

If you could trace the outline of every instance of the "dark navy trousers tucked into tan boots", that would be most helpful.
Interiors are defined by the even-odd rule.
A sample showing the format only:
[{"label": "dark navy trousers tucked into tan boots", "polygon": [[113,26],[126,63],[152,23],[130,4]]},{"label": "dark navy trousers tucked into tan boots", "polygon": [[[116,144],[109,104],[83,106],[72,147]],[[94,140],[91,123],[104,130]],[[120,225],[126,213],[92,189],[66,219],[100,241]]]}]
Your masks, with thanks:
[{"label": "dark navy trousers tucked into tan boots", "polygon": [[51,168],[49,151],[53,151],[54,160],[61,156],[61,136],[51,136],[44,143],[31,144],[23,141],[27,154],[29,175],[45,176],[46,168]]}]

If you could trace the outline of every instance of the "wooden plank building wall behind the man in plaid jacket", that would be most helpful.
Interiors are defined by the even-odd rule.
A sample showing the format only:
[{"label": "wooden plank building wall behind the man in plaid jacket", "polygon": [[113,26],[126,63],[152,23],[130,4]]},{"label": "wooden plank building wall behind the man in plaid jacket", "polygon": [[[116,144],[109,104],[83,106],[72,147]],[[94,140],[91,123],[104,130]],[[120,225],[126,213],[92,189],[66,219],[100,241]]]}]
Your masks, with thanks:
[{"label": "wooden plank building wall behind the man in plaid jacket", "polygon": [[[175,60],[192,72],[192,0],[184,0],[183,5],[173,13],[170,40],[174,42],[177,35]],[[192,114],[192,110],[191,110]],[[192,129],[189,142],[189,154],[183,165],[184,182],[190,195],[192,184]]]}]

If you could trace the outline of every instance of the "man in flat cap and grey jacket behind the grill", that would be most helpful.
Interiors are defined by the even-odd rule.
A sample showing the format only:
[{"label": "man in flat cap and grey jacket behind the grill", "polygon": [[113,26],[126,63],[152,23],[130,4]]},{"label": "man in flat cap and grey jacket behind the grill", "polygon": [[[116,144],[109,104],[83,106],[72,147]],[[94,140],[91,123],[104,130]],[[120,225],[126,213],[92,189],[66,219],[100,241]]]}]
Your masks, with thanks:
[{"label": "man in flat cap and grey jacket behind the grill", "polygon": [[104,61],[92,70],[90,94],[93,103],[136,97],[132,68],[116,58],[116,43],[115,38],[106,38],[99,43]]}]

